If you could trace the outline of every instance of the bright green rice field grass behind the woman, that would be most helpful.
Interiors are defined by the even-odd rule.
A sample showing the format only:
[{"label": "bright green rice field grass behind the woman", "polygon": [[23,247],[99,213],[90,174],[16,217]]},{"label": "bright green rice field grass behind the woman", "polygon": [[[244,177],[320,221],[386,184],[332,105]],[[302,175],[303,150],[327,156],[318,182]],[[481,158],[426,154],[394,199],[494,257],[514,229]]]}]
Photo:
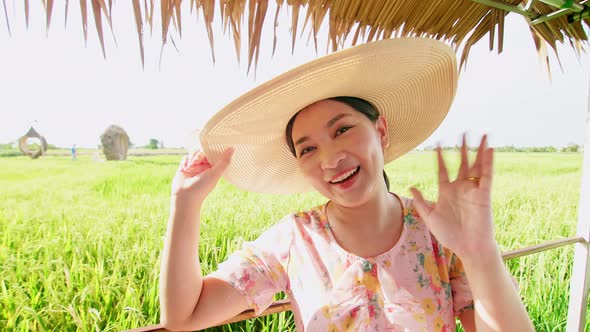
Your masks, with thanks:
[{"label": "bright green rice field grass behind the woman", "polygon": [[[581,154],[496,157],[494,215],[503,250],[575,234]],[[157,323],[159,256],[179,160],[0,158],[0,326],[115,331]],[[386,170],[393,191],[408,195],[415,185],[436,198],[431,153],[408,154]],[[318,194],[252,194],[222,181],[203,211],[204,272],[285,214],[323,201]],[[572,253],[567,247],[507,263],[538,331],[565,330]],[[292,327],[292,316],[280,314],[223,330]]]}]

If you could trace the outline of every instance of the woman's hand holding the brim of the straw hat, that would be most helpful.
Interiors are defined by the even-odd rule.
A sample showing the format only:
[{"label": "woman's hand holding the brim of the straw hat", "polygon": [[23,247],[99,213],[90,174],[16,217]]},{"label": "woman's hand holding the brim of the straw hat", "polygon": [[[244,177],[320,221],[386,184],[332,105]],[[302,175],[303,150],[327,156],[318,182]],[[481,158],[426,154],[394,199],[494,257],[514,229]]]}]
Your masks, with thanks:
[{"label": "woman's hand holding the brim of the straw hat", "polygon": [[172,196],[189,204],[200,204],[213,190],[229,165],[234,150],[223,152],[219,161],[211,165],[202,150],[182,159],[172,180]]}]

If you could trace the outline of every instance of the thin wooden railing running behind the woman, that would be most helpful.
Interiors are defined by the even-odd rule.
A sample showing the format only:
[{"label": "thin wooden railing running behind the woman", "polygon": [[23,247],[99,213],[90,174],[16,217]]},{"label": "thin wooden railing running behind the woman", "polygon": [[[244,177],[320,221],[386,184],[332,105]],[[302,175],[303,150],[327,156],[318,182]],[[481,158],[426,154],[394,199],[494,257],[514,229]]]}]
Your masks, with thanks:
[{"label": "thin wooden railing running behind the woman", "polygon": [[[544,242],[544,243],[537,244],[537,245],[530,246],[530,247],[506,251],[506,252],[502,253],[502,258],[504,260],[509,260],[512,258],[532,255],[532,254],[535,254],[538,252],[564,247],[564,246],[571,245],[574,243],[586,243],[586,240],[584,240],[584,238],[581,236],[574,236],[574,237],[568,237],[568,238],[561,239],[561,240],[548,241],[548,242]],[[264,312],[262,312],[258,316],[254,313],[254,310],[248,309],[248,310],[245,310],[242,313],[236,315],[235,317],[231,318],[230,320],[227,320],[227,321],[220,323],[219,325],[216,325],[216,326],[240,322],[240,321],[250,319],[250,318],[255,318],[255,317],[264,317],[264,316],[276,314],[276,313],[283,312],[283,311],[289,311],[289,310],[291,310],[291,303],[289,302],[289,300],[280,300],[280,301],[276,301],[273,304],[271,304],[270,307],[268,307],[266,310],[264,310]],[[132,329],[129,331],[130,332],[165,332],[168,330],[163,328],[161,324],[156,324],[156,325],[140,327],[137,329]]]}]

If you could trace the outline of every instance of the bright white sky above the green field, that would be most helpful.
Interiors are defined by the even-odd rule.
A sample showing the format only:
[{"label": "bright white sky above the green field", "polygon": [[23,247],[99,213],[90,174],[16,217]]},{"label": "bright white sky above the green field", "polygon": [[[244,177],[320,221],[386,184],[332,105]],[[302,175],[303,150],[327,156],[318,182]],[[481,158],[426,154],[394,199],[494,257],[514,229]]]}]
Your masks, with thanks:
[{"label": "bright white sky above the green field", "polygon": [[[271,57],[274,9],[269,8],[256,77],[253,71],[246,74],[246,61],[238,63],[233,41],[222,35],[219,24],[213,64],[202,18],[197,22],[194,14],[183,16],[182,40],[173,32],[178,52],[169,43],[161,68],[159,25],[151,37],[146,28],[142,70],[129,3],[117,2],[113,10],[118,46],[105,23],[106,60],[91,12],[84,46],[77,2],[70,2],[66,29],[63,7],[56,2],[48,37],[40,2],[31,3],[28,31],[22,3],[7,3],[12,37],[0,9],[0,143],[17,140],[34,125],[51,144],[96,147],[102,131],[118,124],[136,145],[153,137],[167,147],[187,146],[190,132],[225,104],[317,57],[312,43],[306,45],[307,38],[298,40],[291,54],[291,20],[286,16],[279,19],[279,44]],[[563,71],[552,57],[550,81],[524,19],[510,14],[505,31],[501,55],[488,51],[487,36],[472,49],[449,116],[424,145],[457,144],[464,131],[473,141],[489,133],[494,146],[583,143],[590,56],[578,59],[569,45],[560,47]],[[321,35],[319,55],[324,55],[325,27]],[[246,59],[245,46],[242,51]]]}]

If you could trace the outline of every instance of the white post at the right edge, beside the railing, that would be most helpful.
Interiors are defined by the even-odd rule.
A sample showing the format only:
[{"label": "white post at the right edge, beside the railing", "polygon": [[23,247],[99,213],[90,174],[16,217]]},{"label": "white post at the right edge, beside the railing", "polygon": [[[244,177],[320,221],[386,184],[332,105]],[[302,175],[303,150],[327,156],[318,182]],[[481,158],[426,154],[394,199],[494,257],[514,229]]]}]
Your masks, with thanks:
[{"label": "white post at the right edge, beside the railing", "polygon": [[[590,83],[590,82],[589,82]],[[586,113],[586,137],[582,162],[582,185],[578,208],[578,236],[586,242],[576,243],[574,267],[570,281],[570,301],[567,313],[567,331],[584,331],[590,287],[590,86],[588,89],[588,112]]]}]

